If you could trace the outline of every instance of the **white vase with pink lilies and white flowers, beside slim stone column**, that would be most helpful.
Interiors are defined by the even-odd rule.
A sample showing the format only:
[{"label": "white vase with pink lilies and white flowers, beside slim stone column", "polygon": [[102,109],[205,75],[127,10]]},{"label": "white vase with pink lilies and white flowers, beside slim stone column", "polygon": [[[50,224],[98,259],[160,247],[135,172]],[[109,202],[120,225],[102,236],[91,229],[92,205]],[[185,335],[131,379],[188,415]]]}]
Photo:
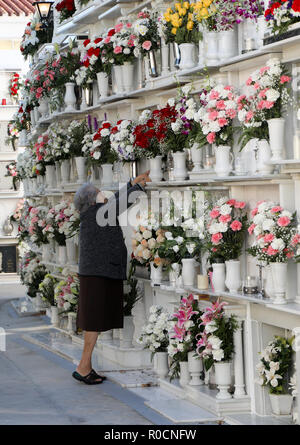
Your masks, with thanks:
[{"label": "white vase with pink lilies and white flowers, beside slim stone column", "polygon": [[197,352],[203,358],[204,368],[209,371],[214,365],[217,399],[230,399],[231,362],[234,354],[233,335],[238,328],[235,315],[227,316],[219,300],[208,307],[200,317],[204,326],[199,336]]}]

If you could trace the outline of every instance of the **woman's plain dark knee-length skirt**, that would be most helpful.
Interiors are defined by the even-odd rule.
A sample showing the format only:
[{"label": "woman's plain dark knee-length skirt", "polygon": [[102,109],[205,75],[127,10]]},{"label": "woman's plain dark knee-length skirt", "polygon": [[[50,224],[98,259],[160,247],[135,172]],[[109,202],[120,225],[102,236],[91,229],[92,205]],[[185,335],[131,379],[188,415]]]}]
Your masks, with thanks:
[{"label": "woman's plain dark knee-length skirt", "polygon": [[77,328],[104,332],[123,327],[123,280],[80,275]]}]

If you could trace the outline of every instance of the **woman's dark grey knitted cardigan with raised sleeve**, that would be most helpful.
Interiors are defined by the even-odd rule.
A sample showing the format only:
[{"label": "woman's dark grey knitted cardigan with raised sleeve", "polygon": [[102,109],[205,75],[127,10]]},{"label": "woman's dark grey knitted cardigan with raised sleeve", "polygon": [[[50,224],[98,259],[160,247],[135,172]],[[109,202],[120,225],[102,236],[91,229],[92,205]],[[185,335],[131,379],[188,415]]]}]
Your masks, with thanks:
[{"label": "woman's dark grey knitted cardigan with raised sleeve", "polygon": [[[100,226],[96,220],[97,212],[107,216],[110,210],[116,209],[118,217],[119,212],[124,211],[119,208],[120,199],[121,202],[125,199],[129,208],[133,204],[130,201],[142,191],[139,184],[132,186],[128,182],[106,203],[92,205],[80,215],[79,275],[126,279],[127,248],[118,218],[115,218],[115,225]],[[135,194],[130,199],[133,192]]]}]

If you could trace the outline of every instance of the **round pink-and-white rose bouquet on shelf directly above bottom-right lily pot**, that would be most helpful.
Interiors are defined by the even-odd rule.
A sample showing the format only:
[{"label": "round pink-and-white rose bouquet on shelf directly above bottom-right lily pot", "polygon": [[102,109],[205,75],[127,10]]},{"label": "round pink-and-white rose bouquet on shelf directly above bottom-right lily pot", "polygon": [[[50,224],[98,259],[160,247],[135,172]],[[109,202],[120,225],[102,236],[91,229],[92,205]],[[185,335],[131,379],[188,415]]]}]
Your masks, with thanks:
[{"label": "round pink-and-white rose bouquet on shelf directly above bottom-right lily pot", "polygon": [[296,213],[272,202],[259,201],[251,216],[248,232],[255,235],[255,240],[248,249],[250,255],[267,264],[286,263],[294,256],[300,243],[295,229]]}]

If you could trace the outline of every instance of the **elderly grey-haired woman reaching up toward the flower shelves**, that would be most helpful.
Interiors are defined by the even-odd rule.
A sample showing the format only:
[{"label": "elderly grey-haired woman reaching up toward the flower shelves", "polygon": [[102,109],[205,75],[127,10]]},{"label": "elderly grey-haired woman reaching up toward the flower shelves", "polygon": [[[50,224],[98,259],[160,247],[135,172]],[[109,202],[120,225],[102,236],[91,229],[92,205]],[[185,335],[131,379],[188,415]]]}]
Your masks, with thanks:
[{"label": "elderly grey-haired woman reaching up toward the flower shelves", "polygon": [[74,198],[80,212],[77,328],[85,333],[82,357],[72,375],[88,385],[105,379],[92,369],[98,333],[123,327],[127,249],[118,216],[133,204],[148,181],[149,171],[132,179],[109,200],[92,184],[84,184]]}]

